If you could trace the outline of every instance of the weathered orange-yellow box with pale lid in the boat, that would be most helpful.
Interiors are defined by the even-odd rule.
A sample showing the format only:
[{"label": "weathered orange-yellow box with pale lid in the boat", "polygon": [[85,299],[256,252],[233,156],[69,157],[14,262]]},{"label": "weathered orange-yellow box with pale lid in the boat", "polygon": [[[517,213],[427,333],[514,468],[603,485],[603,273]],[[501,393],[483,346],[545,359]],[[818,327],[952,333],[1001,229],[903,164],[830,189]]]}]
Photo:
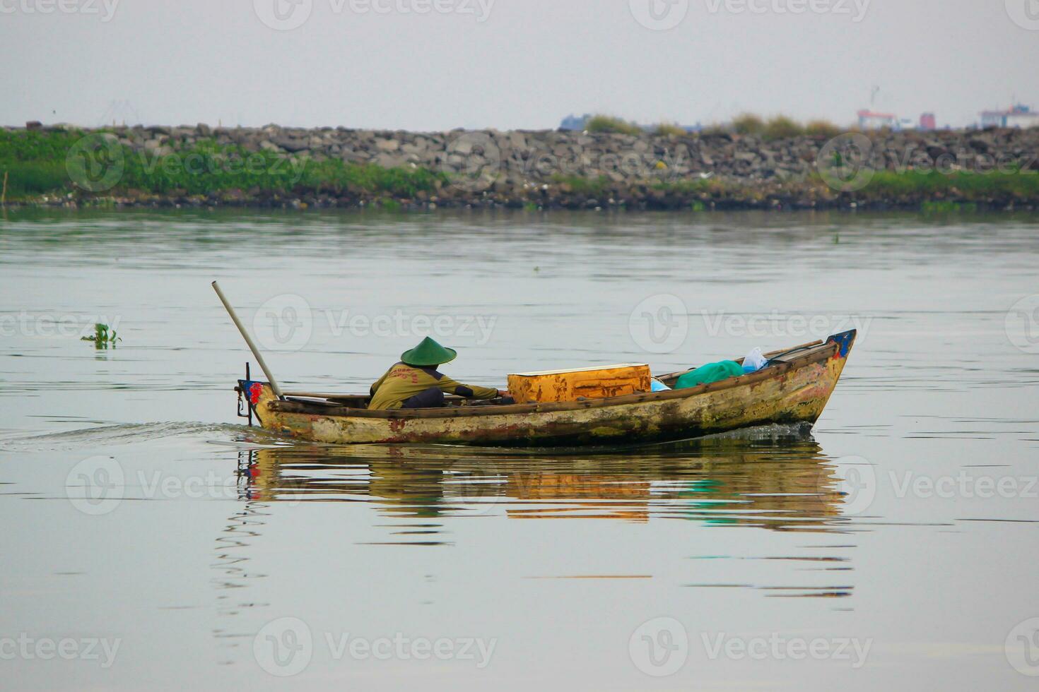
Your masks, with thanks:
[{"label": "weathered orange-yellow box with pale lid in the boat", "polygon": [[523,372],[509,376],[509,394],[517,404],[623,396],[649,391],[649,378],[644,363]]}]

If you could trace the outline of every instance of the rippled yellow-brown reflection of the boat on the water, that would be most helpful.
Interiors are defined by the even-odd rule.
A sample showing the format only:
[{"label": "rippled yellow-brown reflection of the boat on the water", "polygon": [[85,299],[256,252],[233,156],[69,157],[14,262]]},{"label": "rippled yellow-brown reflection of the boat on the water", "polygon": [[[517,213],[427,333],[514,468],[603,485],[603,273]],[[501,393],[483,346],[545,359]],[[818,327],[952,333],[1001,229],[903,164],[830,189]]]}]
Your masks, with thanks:
[{"label": "rippled yellow-brown reflection of the boat on the water", "polygon": [[394,517],[669,518],[788,531],[847,526],[833,467],[796,428],[596,454],[388,445],[248,454],[246,493],[260,501],[370,501]]}]

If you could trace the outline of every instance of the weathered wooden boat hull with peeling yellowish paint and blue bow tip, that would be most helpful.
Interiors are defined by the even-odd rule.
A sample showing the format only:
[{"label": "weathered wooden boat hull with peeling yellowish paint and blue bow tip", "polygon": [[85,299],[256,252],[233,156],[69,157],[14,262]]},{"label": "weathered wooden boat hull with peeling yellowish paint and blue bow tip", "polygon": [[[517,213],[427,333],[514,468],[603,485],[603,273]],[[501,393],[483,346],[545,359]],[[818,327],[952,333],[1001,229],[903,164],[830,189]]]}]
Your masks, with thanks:
[{"label": "weathered wooden boat hull with peeling yellowish paint and blue bow tip", "polygon": [[[622,446],[685,440],[770,423],[815,423],[836,387],[854,330],[766,354],[762,370],[688,389],[579,402],[501,405],[449,400],[439,409],[369,411],[368,395],[284,398],[239,380],[264,428],[330,444],[488,447]],[[739,362],[739,361],[738,361]],[[685,372],[658,376],[667,385]]]}]

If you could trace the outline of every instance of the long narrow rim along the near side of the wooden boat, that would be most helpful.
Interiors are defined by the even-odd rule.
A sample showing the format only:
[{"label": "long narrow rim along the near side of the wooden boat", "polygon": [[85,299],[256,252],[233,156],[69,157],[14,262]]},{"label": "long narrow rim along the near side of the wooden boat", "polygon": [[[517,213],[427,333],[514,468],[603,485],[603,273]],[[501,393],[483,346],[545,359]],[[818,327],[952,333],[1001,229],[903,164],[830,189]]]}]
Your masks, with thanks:
[{"label": "long narrow rim along the near side of the wooden boat", "polygon": [[773,378],[780,377],[791,370],[800,369],[817,362],[825,362],[826,360],[832,358],[835,353],[840,353],[840,349],[841,345],[838,343],[834,341],[826,341],[817,347],[812,347],[810,350],[789,361],[781,362],[777,365],[770,365],[769,367],[758,370],[757,372],[751,372],[750,375],[727,378],[719,382],[697,385],[696,387],[689,387],[686,389],[624,394],[622,396],[610,396],[584,402],[507,404],[498,406],[453,407],[443,409],[411,409],[406,411],[400,409],[390,411],[370,411],[368,409],[354,409],[346,406],[329,408],[327,404],[318,404],[317,402],[311,404],[304,402],[286,402],[274,399],[268,402],[267,407],[274,413],[315,415],[329,418],[379,418],[383,420],[469,418],[479,416],[507,416],[527,415],[532,413],[556,413],[561,411],[581,411],[587,409],[601,409],[630,406],[634,404],[684,399],[708,392],[721,391],[735,387],[749,387],[760,382],[766,382]]}]

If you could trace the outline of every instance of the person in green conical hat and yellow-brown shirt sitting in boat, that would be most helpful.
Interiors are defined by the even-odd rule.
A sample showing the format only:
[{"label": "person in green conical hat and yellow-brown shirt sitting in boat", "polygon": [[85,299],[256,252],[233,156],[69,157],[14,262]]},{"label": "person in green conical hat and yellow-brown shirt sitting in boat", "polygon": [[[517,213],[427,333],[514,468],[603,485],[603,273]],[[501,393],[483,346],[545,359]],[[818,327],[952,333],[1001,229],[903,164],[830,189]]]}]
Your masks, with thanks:
[{"label": "person in green conical hat and yellow-brown shirt sitting in boat", "polygon": [[369,410],[434,409],[446,406],[445,394],[479,399],[509,395],[501,389],[458,384],[436,371],[437,365],[450,363],[457,356],[454,349],[442,347],[427,336],[422,343],[402,353],[401,362],[372,385]]}]

